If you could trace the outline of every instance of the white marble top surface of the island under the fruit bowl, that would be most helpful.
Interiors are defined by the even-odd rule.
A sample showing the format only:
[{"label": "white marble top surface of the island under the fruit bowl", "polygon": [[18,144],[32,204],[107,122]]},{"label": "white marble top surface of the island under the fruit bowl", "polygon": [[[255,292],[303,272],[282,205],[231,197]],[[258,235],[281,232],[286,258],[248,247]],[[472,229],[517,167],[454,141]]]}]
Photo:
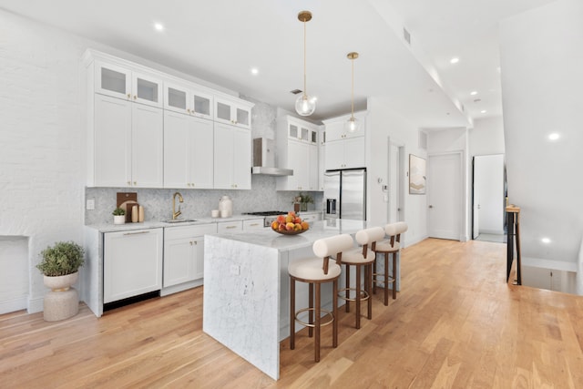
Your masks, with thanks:
[{"label": "white marble top surface of the island under the fruit bowl", "polygon": [[369,227],[365,220],[320,220],[312,222],[310,230],[298,235],[282,235],[271,229],[241,231],[229,234],[210,234],[231,241],[242,241],[258,246],[288,251],[309,246],[322,238],[348,233],[353,234],[358,230]]}]

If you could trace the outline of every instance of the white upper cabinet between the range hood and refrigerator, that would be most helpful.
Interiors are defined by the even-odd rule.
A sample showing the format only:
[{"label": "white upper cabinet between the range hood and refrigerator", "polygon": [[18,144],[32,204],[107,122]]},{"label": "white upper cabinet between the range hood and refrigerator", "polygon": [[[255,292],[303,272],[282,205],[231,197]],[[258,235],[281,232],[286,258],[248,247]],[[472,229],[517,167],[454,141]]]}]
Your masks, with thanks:
[{"label": "white upper cabinet between the range hood and refrigerator", "polygon": [[282,168],[293,169],[292,176],[277,178],[278,190],[319,190],[318,128],[298,118],[278,119],[277,158]]}]

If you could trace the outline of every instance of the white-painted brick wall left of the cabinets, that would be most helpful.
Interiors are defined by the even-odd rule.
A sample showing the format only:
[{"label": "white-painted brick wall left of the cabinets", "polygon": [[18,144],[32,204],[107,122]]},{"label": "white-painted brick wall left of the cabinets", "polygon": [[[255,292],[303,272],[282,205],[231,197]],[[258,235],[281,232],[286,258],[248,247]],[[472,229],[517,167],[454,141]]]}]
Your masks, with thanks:
[{"label": "white-painted brick wall left of the cabinets", "polygon": [[[29,237],[30,312],[42,310],[46,293],[38,253],[82,240],[86,48],[79,37],[0,11],[0,236]],[[6,271],[20,274],[20,266]]]}]

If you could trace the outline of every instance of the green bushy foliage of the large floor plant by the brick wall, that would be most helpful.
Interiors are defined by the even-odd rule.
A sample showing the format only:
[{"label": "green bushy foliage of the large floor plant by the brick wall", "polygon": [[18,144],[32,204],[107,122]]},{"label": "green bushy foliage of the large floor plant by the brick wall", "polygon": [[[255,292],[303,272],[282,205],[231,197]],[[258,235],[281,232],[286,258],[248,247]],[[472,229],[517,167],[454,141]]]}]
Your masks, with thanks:
[{"label": "green bushy foliage of the large floor plant by the brick wall", "polygon": [[47,277],[72,274],[83,266],[84,250],[74,241],[57,241],[40,252],[43,261],[36,268]]}]

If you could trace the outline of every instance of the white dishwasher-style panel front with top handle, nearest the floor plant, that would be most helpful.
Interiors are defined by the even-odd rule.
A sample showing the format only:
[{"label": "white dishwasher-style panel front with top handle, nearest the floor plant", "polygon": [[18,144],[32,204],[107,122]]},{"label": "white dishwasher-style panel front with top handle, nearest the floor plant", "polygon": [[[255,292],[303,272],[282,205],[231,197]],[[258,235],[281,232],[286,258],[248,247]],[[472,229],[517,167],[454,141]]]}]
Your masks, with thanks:
[{"label": "white dishwasher-style panel front with top handle, nearest the floor plant", "polygon": [[162,287],[162,229],[107,232],[103,242],[103,302]]}]

